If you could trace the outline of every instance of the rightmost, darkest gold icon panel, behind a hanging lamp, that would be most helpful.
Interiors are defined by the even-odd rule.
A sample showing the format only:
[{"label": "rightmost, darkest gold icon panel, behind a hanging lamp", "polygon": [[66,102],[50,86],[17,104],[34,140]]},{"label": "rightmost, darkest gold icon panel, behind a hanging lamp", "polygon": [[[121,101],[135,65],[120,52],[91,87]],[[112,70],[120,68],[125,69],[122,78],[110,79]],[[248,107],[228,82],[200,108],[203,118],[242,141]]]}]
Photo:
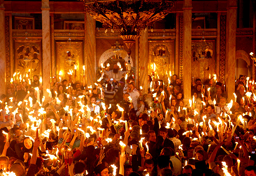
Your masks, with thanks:
[{"label": "rightmost, darkest gold icon panel, behind a hanging lamp", "polygon": [[203,51],[200,40],[192,41],[191,76],[194,81],[200,78],[202,82],[213,77],[215,70],[215,40],[206,40]]}]

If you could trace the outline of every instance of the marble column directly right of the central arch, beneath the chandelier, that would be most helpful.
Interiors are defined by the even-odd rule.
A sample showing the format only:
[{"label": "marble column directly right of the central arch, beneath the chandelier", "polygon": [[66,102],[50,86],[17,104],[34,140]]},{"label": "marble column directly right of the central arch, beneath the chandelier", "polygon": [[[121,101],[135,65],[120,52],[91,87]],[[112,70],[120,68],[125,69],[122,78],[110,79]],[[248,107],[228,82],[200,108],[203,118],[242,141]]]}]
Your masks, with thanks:
[{"label": "marble column directly right of the central arch, beneath the chandelier", "polygon": [[142,92],[147,93],[147,75],[148,75],[148,32],[141,30],[140,32],[140,58],[139,58],[139,71],[140,83]]}]

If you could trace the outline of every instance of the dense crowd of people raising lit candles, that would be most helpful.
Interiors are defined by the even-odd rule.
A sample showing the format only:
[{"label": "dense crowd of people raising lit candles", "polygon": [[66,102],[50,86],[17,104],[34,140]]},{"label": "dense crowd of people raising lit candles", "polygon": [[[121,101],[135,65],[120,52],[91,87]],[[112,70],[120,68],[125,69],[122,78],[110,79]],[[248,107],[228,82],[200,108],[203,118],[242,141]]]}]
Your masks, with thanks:
[{"label": "dense crowd of people raising lit candles", "polygon": [[38,76],[14,79],[0,97],[0,175],[256,176],[254,80],[240,75],[227,97],[218,75],[156,77],[142,91],[114,65],[94,85],[53,77],[44,95]]}]

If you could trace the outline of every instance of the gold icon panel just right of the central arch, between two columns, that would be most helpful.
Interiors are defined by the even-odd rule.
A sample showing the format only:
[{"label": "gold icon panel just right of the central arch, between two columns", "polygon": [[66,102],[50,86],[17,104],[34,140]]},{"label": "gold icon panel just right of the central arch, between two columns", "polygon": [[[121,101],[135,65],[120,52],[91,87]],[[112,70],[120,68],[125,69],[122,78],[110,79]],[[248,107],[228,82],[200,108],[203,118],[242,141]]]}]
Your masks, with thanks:
[{"label": "gold icon panel just right of the central arch, between two columns", "polygon": [[174,74],[174,40],[149,41],[149,74],[155,74],[164,84]]}]

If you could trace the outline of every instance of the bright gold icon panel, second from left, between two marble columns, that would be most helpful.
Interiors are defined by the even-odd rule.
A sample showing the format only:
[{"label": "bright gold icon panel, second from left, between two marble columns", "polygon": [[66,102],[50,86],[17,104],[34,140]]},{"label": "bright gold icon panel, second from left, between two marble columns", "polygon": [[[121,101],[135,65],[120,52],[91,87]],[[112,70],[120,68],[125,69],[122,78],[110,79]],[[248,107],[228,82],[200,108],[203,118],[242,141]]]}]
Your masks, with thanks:
[{"label": "bright gold icon panel, second from left, between two marble columns", "polygon": [[[84,47],[82,41],[57,41],[56,42],[56,65],[57,65],[57,82],[59,82],[59,72],[62,72],[61,79],[69,80],[68,72],[71,70],[72,79],[74,80],[75,65],[77,66],[76,79],[82,80],[83,63],[84,63]],[[70,51],[70,55],[68,55]]]}]

